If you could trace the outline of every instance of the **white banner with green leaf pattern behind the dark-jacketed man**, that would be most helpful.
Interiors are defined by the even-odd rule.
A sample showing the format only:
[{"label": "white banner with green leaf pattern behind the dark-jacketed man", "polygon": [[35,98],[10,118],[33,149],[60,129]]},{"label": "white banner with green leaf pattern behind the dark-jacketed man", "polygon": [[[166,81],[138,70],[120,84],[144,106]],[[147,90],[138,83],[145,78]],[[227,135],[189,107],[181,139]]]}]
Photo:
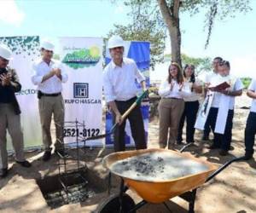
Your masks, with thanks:
[{"label": "white banner with green leaf pattern behind the dark-jacketed man", "polygon": [[[12,50],[14,59],[9,61],[9,66],[15,68],[22,86],[16,97],[20,104],[25,147],[41,146],[37,91],[31,81],[32,62],[40,56],[39,37],[0,37],[0,43],[5,43]],[[7,147],[12,149],[9,137]]]}]

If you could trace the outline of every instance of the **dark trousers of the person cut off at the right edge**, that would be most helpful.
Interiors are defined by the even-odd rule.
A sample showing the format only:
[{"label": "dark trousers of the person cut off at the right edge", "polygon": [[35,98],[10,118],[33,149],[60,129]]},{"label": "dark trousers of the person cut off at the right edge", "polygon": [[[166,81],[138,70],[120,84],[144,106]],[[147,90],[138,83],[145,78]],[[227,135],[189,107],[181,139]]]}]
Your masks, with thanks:
[{"label": "dark trousers of the person cut off at the right edge", "polygon": [[253,146],[256,134],[256,112],[250,112],[247,118],[247,125],[244,132],[245,151],[251,155],[254,153]]}]

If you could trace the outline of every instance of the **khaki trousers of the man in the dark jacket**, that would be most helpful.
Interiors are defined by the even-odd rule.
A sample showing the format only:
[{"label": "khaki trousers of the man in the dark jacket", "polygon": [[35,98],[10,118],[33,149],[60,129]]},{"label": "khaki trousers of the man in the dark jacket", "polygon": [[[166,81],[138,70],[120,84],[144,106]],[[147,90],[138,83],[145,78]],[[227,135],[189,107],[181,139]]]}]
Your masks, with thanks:
[{"label": "khaki trousers of the man in the dark jacket", "polygon": [[24,161],[24,141],[20,125],[20,115],[16,115],[11,104],[0,103],[0,169],[8,169],[6,130],[11,137],[15,159]]}]

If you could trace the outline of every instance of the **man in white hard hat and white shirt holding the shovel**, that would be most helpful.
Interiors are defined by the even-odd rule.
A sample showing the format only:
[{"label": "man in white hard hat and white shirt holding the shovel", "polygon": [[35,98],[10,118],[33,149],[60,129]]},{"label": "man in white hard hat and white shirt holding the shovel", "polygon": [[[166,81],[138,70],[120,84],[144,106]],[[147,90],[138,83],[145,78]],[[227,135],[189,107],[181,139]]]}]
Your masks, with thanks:
[{"label": "man in white hard hat and white shirt holding the shovel", "polygon": [[[114,151],[125,150],[125,120],[121,115],[137,100],[137,86],[141,83],[146,90],[143,74],[138,70],[134,60],[123,57],[124,41],[122,37],[113,36],[108,40],[108,50],[112,60],[103,72],[104,93],[108,106],[114,116],[114,122],[119,123],[119,128],[114,131]],[[128,115],[131,124],[131,135],[137,149],[147,148],[143,116],[140,106],[137,106]]]}]

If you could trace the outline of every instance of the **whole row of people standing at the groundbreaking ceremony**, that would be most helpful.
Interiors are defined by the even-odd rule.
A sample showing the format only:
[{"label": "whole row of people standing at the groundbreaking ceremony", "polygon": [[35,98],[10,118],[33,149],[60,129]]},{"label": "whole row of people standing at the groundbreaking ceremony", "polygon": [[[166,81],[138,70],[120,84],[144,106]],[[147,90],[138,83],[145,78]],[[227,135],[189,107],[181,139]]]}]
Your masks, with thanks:
[{"label": "whole row of people standing at the groundbreaking ceremony", "polygon": [[[115,152],[125,150],[125,122],[129,119],[131,135],[137,149],[147,148],[140,105],[137,105],[127,118],[122,114],[137,100],[137,83],[146,91],[143,74],[138,70],[134,60],[124,57],[125,43],[122,37],[113,36],[107,46],[112,60],[104,68],[103,91],[108,107],[113,112],[113,124],[119,127],[114,130],[113,148]],[[32,66],[32,83],[38,87],[38,108],[42,127],[44,155],[48,161],[52,154],[50,124],[53,115],[55,122],[55,153],[62,156],[64,152],[63,125],[65,107],[61,95],[62,83],[67,82],[67,73],[61,62],[53,60],[54,45],[50,42],[41,44],[41,58]],[[23,134],[20,125],[20,107],[15,98],[21,85],[14,69],[9,67],[11,51],[0,45],[0,177],[8,175],[7,130],[11,136],[15,160],[24,167],[30,167],[24,157]],[[239,78],[230,75],[230,62],[216,57],[213,60],[213,72],[207,75],[204,82],[195,77],[195,66],[181,68],[172,62],[166,69],[166,79],[160,84],[159,104],[160,148],[174,149],[183,141],[183,126],[186,121],[186,142],[195,142],[195,128],[203,124],[202,140],[208,140],[212,130],[214,135],[211,149],[219,148],[220,155],[227,155],[230,150],[234,117],[235,98],[241,95],[243,84]],[[229,86],[219,89],[218,85]],[[205,101],[200,107],[200,96]],[[256,79],[252,80],[247,95],[252,98],[252,106],[245,129],[245,159],[253,158],[254,137],[256,134]],[[201,116],[203,114],[203,116]],[[201,119],[204,118],[204,119]]]}]

